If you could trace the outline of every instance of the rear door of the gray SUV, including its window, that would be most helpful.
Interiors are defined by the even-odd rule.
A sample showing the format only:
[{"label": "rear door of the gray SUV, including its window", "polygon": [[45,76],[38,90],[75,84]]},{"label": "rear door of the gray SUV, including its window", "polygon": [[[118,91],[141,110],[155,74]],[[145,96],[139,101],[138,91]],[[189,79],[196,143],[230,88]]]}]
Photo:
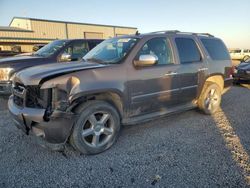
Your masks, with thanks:
[{"label": "rear door of the gray SUV, including its window", "polygon": [[208,72],[199,41],[193,36],[176,36],[173,38],[178,62],[177,74],[180,79],[180,103],[189,103],[196,99],[199,82],[202,82]]}]

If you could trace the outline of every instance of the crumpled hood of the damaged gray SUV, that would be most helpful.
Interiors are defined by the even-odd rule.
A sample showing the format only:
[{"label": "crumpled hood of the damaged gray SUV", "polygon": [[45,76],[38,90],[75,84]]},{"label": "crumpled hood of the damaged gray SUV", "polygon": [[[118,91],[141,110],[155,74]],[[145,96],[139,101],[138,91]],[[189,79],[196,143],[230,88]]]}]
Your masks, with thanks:
[{"label": "crumpled hood of the damaged gray SUV", "polygon": [[96,69],[108,65],[90,63],[90,62],[66,62],[66,63],[52,63],[47,65],[35,66],[16,74],[14,81],[21,81],[24,85],[38,85],[45,78],[53,78],[59,75],[68,74],[71,72]]}]

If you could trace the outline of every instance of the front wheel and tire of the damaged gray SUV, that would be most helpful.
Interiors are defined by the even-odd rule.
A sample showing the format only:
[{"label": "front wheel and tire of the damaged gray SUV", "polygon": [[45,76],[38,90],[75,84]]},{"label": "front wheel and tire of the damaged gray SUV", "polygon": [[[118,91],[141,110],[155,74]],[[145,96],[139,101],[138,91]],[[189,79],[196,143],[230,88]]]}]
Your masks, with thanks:
[{"label": "front wheel and tire of the damaged gray SUV", "polygon": [[109,149],[120,133],[117,110],[105,101],[90,101],[80,109],[70,136],[71,145],[83,154],[98,154]]}]

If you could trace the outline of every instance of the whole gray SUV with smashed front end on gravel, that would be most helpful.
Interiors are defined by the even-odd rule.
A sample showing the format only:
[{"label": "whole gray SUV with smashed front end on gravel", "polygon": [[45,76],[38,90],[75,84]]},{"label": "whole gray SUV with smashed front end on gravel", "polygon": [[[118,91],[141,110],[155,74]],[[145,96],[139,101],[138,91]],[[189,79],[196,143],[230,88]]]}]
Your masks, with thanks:
[{"label": "whole gray SUV with smashed front end on gravel", "polygon": [[96,154],[113,145],[121,125],[195,107],[214,113],[231,83],[220,39],[162,31],[105,40],[80,63],[21,71],[8,106],[27,134]]}]

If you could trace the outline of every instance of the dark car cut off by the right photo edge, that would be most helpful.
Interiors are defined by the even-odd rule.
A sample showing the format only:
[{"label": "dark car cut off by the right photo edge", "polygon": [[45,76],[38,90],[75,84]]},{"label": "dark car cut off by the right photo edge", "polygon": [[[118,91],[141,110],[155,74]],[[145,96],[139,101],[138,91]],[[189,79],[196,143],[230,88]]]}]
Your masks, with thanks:
[{"label": "dark car cut off by the right photo edge", "polygon": [[235,67],[234,83],[250,84],[250,58]]}]

